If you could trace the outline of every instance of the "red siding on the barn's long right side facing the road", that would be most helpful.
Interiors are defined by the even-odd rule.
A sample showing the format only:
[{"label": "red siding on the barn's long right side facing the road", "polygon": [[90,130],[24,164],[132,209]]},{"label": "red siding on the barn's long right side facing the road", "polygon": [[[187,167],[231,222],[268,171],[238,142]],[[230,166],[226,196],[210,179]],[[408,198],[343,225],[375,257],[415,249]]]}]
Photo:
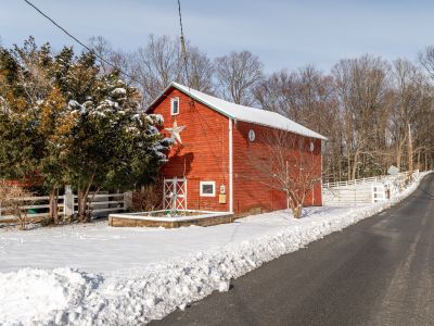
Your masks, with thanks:
[{"label": "red siding on the barn's long right side facing the road", "polygon": [[[254,142],[248,141],[248,130],[253,129],[256,134]],[[250,154],[266,155],[266,146],[261,142],[261,137],[267,133],[272,133],[269,127],[238,122],[233,128],[233,208],[235,213],[260,209],[261,211],[282,210],[286,208],[286,198],[282,191],[267,186],[272,183],[272,178],[264,183],[255,179],[258,174],[257,167],[248,164]],[[315,171],[321,175],[321,141],[312,139],[316,150],[314,151]],[[295,152],[294,152],[295,153]],[[318,183],[314,191],[308,193],[305,200],[306,205],[321,205],[321,185]]]}]

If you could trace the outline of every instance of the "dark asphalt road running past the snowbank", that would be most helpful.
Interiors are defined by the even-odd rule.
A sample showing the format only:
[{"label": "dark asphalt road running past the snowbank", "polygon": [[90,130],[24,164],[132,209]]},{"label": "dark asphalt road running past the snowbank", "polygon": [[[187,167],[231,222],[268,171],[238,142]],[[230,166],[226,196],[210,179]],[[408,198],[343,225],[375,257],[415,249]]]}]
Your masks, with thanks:
[{"label": "dark asphalt road running past the snowbank", "polygon": [[392,209],[151,325],[434,325],[434,174]]}]

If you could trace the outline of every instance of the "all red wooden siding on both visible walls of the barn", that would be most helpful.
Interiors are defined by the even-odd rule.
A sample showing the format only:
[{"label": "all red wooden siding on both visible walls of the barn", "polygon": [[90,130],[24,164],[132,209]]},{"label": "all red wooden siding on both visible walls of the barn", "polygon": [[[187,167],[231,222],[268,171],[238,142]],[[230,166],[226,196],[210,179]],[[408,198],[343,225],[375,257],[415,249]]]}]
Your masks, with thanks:
[{"label": "all red wooden siding on both visible walls of the barn", "polygon": [[[179,98],[179,114],[170,114],[170,99]],[[213,109],[192,101],[183,92],[171,88],[151,110],[162,114],[164,127],[169,128],[177,121],[178,126],[186,126],[180,136],[182,146],[175,145],[169,152],[169,161],[162,168],[165,178],[187,178],[187,199],[190,210],[229,211],[229,118]],[[257,139],[248,141],[248,130],[253,129]],[[233,148],[233,211],[242,213],[250,210],[273,211],[286,208],[286,198],[282,191],[267,187],[250,176],[255,174],[248,164],[252,147],[265,152],[260,135],[271,133],[272,128],[238,121],[232,125]],[[166,135],[167,131],[163,130]],[[298,136],[301,137],[301,136]],[[305,138],[306,139],[306,138]],[[315,170],[321,175],[321,140],[315,142]],[[310,141],[310,139],[308,139]],[[257,152],[256,152],[257,153]],[[201,197],[200,181],[215,181],[216,196]],[[219,203],[219,188],[226,187],[227,200]],[[321,205],[321,185],[308,193],[306,205]]]}]

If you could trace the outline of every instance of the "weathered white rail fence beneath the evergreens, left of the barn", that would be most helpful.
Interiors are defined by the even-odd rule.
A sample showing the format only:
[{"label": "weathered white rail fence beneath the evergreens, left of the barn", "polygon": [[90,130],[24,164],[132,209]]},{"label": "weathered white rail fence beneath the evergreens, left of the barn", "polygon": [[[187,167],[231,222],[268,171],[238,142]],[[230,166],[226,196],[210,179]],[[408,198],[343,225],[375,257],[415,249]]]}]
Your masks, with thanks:
[{"label": "weathered white rail fence beneath the evergreens, left of the barn", "polygon": [[[49,196],[28,197],[18,200],[29,203],[22,206],[22,209],[27,211],[27,218],[46,217],[49,215]],[[90,193],[88,202],[92,216],[103,216],[110,212],[124,212],[131,206],[131,192]],[[64,196],[59,196],[58,210],[60,216],[73,216],[78,211],[78,196],[66,190]],[[11,210],[2,208],[0,204],[0,223],[13,220],[15,220],[15,216],[11,214]]]}]

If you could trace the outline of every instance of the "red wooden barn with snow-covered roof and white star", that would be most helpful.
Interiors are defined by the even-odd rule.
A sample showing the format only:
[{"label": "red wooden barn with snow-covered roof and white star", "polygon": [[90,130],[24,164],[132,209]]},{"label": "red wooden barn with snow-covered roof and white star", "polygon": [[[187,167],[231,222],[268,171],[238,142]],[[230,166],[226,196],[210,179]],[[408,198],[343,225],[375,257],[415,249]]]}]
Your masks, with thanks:
[{"label": "red wooden barn with snow-covered roof and white star", "polygon": [[[284,130],[309,141],[315,168],[321,175],[321,148],[326,138],[295,122],[260,109],[247,108],[171,83],[149,106],[161,114],[164,133],[176,139],[163,166],[164,208],[221,211],[240,214],[286,208],[282,191],[245,175],[253,146],[261,150],[258,135]],[[318,181],[306,205],[321,205]]]}]

